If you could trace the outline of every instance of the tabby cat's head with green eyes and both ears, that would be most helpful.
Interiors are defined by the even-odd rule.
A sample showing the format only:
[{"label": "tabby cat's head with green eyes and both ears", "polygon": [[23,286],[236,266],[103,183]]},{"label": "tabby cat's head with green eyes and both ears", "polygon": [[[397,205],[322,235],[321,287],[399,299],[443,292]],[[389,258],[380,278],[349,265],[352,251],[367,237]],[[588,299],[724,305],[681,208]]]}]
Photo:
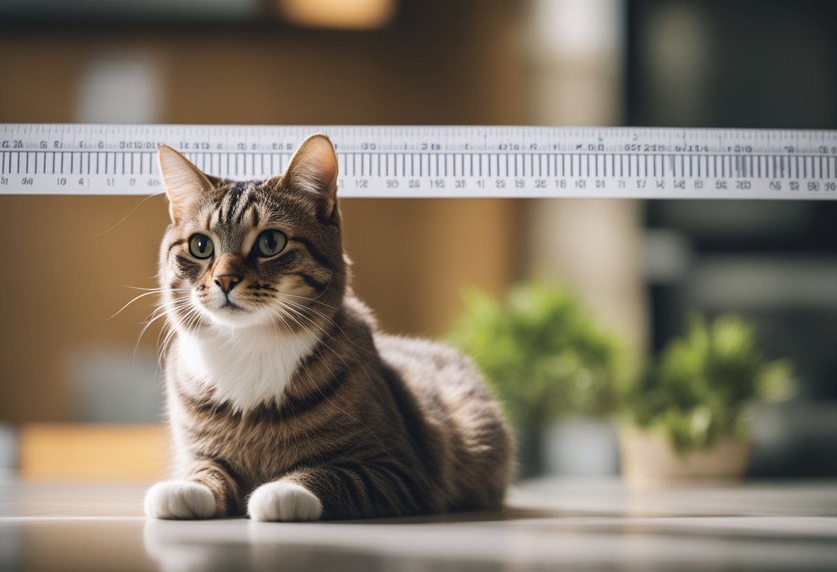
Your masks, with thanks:
[{"label": "tabby cat's head with green eyes and both ears", "polygon": [[325,135],[309,137],[267,181],[208,176],[167,146],[157,158],[172,218],[159,272],[169,319],[297,331],[340,305],[337,158]]}]

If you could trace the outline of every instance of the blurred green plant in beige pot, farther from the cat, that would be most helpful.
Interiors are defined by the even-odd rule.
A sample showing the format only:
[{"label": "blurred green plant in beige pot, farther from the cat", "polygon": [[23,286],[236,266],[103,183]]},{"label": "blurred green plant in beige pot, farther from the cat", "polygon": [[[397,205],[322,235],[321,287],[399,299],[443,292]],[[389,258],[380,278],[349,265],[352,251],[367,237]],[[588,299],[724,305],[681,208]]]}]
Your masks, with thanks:
[{"label": "blurred green plant in beige pot, farther from the cat", "polygon": [[765,360],[742,319],[725,315],[706,324],[691,315],[686,335],[672,340],[625,396],[624,477],[742,478],[748,407],[788,399],[793,386],[788,361]]}]

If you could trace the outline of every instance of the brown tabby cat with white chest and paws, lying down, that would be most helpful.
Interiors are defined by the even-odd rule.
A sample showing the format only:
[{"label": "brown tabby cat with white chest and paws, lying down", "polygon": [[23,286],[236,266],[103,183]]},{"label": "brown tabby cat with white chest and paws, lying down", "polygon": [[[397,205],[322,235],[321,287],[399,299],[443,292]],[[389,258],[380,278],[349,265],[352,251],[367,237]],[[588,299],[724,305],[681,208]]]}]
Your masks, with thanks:
[{"label": "brown tabby cat with white chest and paws, lying down", "polygon": [[352,293],[331,140],[312,135],[267,181],[206,175],[167,146],[157,158],[173,475],[146,516],[501,507],[513,447],[480,374],[452,348],[384,335]]}]

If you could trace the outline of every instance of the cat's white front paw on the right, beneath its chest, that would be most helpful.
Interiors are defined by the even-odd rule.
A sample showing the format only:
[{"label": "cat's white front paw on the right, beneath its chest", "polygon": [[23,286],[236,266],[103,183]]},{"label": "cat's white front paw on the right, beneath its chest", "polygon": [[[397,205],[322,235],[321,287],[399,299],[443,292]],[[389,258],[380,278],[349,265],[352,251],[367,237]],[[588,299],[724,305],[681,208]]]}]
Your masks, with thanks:
[{"label": "cat's white front paw on the right, beneath its chest", "polygon": [[295,483],[263,484],[247,503],[247,513],[253,520],[316,520],[322,514],[322,503],[307,488]]}]

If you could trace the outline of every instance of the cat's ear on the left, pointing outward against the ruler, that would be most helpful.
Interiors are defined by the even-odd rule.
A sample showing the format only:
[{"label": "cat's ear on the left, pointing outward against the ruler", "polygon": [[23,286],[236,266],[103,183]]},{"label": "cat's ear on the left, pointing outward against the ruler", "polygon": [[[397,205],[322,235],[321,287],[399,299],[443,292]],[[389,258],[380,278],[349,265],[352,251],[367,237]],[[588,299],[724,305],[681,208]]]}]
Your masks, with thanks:
[{"label": "cat's ear on the left, pointing outward against the ruler", "polygon": [[157,165],[160,166],[163,186],[168,198],[168,214],[177,223],[189,212],[201,195],[215,188],[213,179],[201,172],[189,160],[171,147],[161,145],[157,149]]}]

